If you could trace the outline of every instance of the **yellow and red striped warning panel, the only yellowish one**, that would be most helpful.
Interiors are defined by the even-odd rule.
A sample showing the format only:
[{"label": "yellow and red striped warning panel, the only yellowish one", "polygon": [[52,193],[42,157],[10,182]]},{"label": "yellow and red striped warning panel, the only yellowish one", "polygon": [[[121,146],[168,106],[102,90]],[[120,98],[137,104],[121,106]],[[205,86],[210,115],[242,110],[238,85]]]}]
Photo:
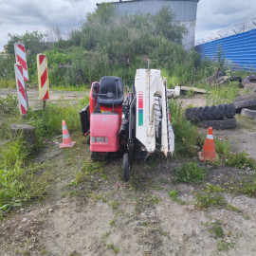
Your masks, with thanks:
[{"label": "yellow and red striped warning panel, the only yellowish one", "polygon": [[37,72],[39,83],[39,98],[42,101],[46,101],[49,99],[49,80],[47,58],[45,54],[37,54]]}]

